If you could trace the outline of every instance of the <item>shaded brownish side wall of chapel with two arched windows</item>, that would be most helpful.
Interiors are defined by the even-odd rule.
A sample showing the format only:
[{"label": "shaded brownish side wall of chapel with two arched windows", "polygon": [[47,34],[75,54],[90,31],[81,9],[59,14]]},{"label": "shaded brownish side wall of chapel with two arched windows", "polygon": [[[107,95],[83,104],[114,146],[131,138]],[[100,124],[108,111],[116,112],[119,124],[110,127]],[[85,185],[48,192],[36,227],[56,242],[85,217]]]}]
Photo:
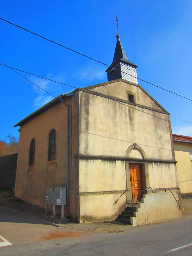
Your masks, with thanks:
[{"label": "shaded brownish side wall of chapel with two arched windows", "polygon": [[[79,108],[78,94],[67,98],[66,103],[72,105],[72,160],[70,161],[70,213],[79,216],[78,211],[78,161],[79,141]],[[70,110],[71,111],[71,110]],[[48,162],[48,136],[51,129],[56,129],[56,161]],[[66,186],[66,130],[67,108],[58,103],[46,110],[43,114],[33,118],[20,128],[19,153],[15,196],[45,208],[45,188]],[[32,138],[35,139],[35,164],[28,166],[29,146]],[[72,167],[71,167],[72,166]]]}]

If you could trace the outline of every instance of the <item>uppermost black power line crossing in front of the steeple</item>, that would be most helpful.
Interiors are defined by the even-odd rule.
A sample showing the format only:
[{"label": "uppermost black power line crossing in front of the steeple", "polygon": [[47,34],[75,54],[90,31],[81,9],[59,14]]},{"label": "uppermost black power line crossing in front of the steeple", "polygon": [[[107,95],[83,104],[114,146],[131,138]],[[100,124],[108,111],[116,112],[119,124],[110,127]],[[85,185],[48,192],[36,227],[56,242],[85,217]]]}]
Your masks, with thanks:
[{"label": "uppermost black power line crossing in front of the steeple", "polygon": [[[120,71],[120,72],[124,73],[124,74],[128,74],[128,73],[126,73],[126,72],[121,71],[120,69],[117,69],[117,68],[115,68],[115,67],[109,66],[108,64],[106,64],[106,63],[104,63],[104,62],[102,62],[102,61],[99,61],[99,60],[94,59],[94,58],[92,58],[92,57],[90,57],[90,56],[87,56],[87,55],[85,55],[85,54],[82,54],[82,53],[80,53],[80,52],[78,52],[78,51],[76,51],[76,50],[74,50],[74,49],[71,49],[71,48],[69,48],[69,47],[66,47],[66,46],[64,46],[64,45],[62,45],[62,44],[60,44],[60,43],[57,43],[57,42],[55,42],[55,41],[53,41],[53,40],[51,40],[51,39],[48,39],[48,38],[46,38],[46,37],[44,37],[44,36],[42,36],[42,35],[39,35],[39,34],[37,34],[37,33],[35,33],[35,32],[32,32],[32,31],[30,31],[30,30],[28,30],[28,29],[26,29],[26,28],[24,28],[24,27],[21,27],[21,26],[19,26],[19,25],[16,25],[16,24],[14,24],[14,23],[12,23],[12,22],[10,22],[10,21],[8,21],[8,20],[5,20],[5,19],[3,19],[3,18],[1,18],[1,17],[0,17],[0,20],[3,20],[3,21],[5,21],[5,22],[7,22],[7,23],[9,23],[9,24],[11,24],[11,25],[16,26],[16,27],[19,27],[19,28],[21,28],[21,29],[23,29],[23,30],[25,30],[25,31],[27,31],[27,32],[29,32],[29,33],[31,33],[31,34],[33,34],[33,35],[37,35],[37,36],[39,36],[39,37],[41,37],[41,38],[43,38],[43,39],[45,39],[45,40],[47,40],[47,41],[49,41],[49,42],[51,42],[51,43],[55,43],[55,44],[57,44],[57,45],[59,45],[59,46],[61,46],[61,47],[64,47],[64,48],[67,49],[67,50],[70,50],[70,51],[73,51],[73,52],[75,52],[75,53],[77,53],[77,54],[80,54],[80,55],[82,55],[82,56],[84,56],[84,57],[86,57],[86,58],[88,58],[88,59],[91,59],[91,60],[93,60],[93,61],[96,61],[96,62],[98,62],[98,63],[100,63],[100,64],[103,64],[103,65],[105,65],[105,66],[107,66],[107,67],[111,67],[111,68],[113,68],[113,69],[115,69],[115,70],[117,70],[117,71]],[[131,74],[128,74],[128,75],[131,76],[131,77],[134,77],[134,78],[136,78],[136,79],[139,79],[139,80],[141,80],[141,81],[143,81],[143,82],[145,82],[145,83],[148,83],[148,84],[150,84],[150,85],[153,85],[153,86],[155,86],[155,87],[157,87],[157,88],[160,88],[160,89],[162,89],[162,90],[165,90],[165,91],[167,91],[167,92],[169,92],[169,93],[173,93],[173,94],[175,94],[175,95],[177,95],[177,96],[180,96],[180,97],[185,98],[185,99],[187,99],[187,100],[189,100],[189,101],[192,101],[192,99],[186,98],[186,97],[184,97],[184,96],[182,96],[182,95],[180,95],[180,94],[178,94],[178,93],[174,93],[174,92],[172,92],[172,91],[170,91],[170,90],[167,90],[167,89],[165,89],[165,88],[162,88],[162,87],[160,87],[160,86],[158,86],[158,85],[154,85],[154,84],[152,84],[152,83],[150,83],[150,82],[147,82],[147,81],[145,81],[145,80],[143,80],[143,79],[141,79],[141,78],[135,77],[135,76],[133,76],[133,75],[131,75]]]}]

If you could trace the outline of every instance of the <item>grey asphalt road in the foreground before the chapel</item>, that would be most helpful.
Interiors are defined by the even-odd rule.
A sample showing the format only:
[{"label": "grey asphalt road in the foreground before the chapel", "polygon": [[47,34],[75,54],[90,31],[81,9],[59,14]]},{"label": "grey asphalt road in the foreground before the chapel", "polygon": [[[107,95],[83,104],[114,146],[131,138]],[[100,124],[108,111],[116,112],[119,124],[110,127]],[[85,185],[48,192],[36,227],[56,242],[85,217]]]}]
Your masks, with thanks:
[{"label": "grey asphalt road in the foreground before the chapel", "polygon": [[[10,245],[1,247],[0,254],[1,256],[191,256],[191,243],[192,217],[188,217],[133,227],[118,233],[90,232],[79,237]],[[173,249],[175,250],[171,251]]]}]

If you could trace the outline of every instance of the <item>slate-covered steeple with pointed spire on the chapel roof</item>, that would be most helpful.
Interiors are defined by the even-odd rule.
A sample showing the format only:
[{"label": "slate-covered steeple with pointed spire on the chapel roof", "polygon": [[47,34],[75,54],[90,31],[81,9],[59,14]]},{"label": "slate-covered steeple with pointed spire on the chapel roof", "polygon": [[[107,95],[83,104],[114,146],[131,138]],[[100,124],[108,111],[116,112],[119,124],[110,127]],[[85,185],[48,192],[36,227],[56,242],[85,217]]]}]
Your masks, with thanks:
[{"label": "slate-covered steeple with pointed spire on the chapel roof", "polygon": [[117,36],[116,36],[117,42],[116,42],[113,62],[110,65],[110,67],[108,67],[108,69],[105,70],[107,72],[108,81],[122,78],[124,80],[128,80],[129,82],[137,83],[137,72],[136,72],[137,65],[129,61],[125,53],[123,45],[120,41],[117,16],[116,16],[116,21],[117,21]]}]

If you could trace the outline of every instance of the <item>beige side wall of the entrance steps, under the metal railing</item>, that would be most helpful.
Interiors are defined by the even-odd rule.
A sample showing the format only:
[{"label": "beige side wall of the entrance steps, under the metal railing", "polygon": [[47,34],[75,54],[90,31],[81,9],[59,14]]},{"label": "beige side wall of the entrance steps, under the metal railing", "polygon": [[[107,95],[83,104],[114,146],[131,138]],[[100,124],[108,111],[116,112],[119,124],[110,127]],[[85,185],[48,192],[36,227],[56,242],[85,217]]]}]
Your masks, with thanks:
[{"label": "beige side wall of the entrance steps, under the metal railing", "polygon": [[[177,193],[174,193],[177,196]],[[179,191],[178,191],[179,194]],[[157,221],[182,217],[182,211],[170,192],[144,194],[136,217],[131,217],[131,224],[143,225]]]}]

